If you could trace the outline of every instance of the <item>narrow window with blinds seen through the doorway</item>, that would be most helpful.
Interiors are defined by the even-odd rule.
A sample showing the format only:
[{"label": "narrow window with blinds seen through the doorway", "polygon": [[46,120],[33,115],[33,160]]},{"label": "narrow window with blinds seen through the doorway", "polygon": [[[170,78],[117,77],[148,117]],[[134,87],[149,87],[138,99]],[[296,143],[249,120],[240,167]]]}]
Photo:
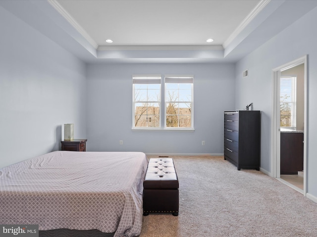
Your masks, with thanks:
[{"label": "narrow window with blinds seen through the doorway", "polygon": [[280,79],[280,126],[296,128],[296,77]]}]

